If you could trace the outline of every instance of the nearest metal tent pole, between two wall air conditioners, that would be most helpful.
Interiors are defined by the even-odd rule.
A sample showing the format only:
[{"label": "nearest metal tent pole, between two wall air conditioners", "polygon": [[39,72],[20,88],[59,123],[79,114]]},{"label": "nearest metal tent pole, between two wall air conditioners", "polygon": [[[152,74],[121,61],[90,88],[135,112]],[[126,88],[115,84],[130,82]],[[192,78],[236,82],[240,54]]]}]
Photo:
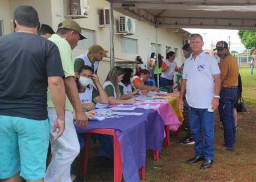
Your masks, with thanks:
[{"label": "nearest metal tent pole, between two wall air conditioners", "polygon": [[115,66],[115,56],[114,56],[114,15],[113,15],[113,2],[109,1],[110,9],[109,9],[109,34],[110,34],[110,69]]}]

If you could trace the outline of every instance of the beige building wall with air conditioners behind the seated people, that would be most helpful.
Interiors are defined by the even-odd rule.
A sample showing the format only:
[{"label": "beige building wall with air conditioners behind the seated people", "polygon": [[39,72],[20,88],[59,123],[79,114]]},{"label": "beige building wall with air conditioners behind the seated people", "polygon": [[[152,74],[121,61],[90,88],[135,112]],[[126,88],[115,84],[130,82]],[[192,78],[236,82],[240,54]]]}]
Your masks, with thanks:
[{"label": "beige building wall with air conditioners behind the seated people", "polygon": [[[57,24],[63,21],[64,15],[68,12],[65,10],[66,0],[52,0],[52,26],[56,30]],[[100,9],[109,7],[109,2],[105,0],[90,0],[88,18],[74,19],[80,24],[82,28],[96,31],[96,43],[100,44],[106,50],[110,50],[109,27],[99,27],[99,13]],[[114,11],[115,24],[118,23],[118,18],[122,14]],[[116,29],[116,28],[115,28]],[[121,39],[122,35],[114,35],[114,50],[115,57],[125,60],[135,60],[136,56],[142,56],[143,61],[148,62],[151,54],[151,43],[155,43],[155,28],[152,24],[136,20],[136,34],[126,36],[138,40],[138,53],[123,53]],[[167,28],[159,28],[158,30],[158,43],[161,45],[160,53],[166,57],[166,46],[178,48],[177,62],[181,65],[181,47],[183,36],[180,32],[167,32]],[[82,53],[87,53],[87,49],[75,48],[73,50],[73,57],[77,57]],[[110,56],[108,53],[107,56]],[[101,82],[105,80],[106,75],[110,70],[110,63],[102,61],[98,68],[98,75]]]}]

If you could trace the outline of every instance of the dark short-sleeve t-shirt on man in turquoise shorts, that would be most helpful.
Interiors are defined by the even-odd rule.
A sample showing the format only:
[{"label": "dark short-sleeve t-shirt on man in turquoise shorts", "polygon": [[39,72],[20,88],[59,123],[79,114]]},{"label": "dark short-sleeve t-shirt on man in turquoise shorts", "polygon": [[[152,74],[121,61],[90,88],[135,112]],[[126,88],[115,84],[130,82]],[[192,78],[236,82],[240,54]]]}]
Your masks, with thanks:
[{"label": "dark short-sleeve t-shirt on man in turquoise shorts", "polygon": [[64,76],[59,49],[35,34],[0,38],[0,115],[47,119],[48,77]]}]

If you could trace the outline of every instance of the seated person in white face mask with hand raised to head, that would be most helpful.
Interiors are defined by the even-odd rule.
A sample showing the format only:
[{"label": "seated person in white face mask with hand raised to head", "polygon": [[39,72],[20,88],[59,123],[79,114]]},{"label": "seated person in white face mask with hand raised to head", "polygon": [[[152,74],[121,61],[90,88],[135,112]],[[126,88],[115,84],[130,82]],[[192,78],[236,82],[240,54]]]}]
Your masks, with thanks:
[{"label": "seated person in white face mask with hand raised to head", "polygon": [[[94,88],[92,82],[97,89]],[[108,95],[102,88],[98,76],[93,74],[93,69],[88,65],[84,65],[84,67],[79,70],[79,75],[76,77],[76,84],[79,90],[79,98],[82,102],[82,107],[85,110],[95,109],[94,101],[101,104],[109,103]]]}]

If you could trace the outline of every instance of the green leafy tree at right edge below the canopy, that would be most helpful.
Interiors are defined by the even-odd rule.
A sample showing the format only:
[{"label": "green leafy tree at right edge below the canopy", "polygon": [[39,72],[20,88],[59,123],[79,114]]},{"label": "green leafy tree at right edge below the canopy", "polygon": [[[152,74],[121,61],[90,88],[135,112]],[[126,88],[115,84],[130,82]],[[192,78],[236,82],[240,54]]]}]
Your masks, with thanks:
[{"label": "green leafy tree at right edge below the canopy", "polygon": [[256,31],[254,30],[240,30],[238,31],[240,40],[246,49],[250,49],[250,55],[254,53],[256,48]]}]

